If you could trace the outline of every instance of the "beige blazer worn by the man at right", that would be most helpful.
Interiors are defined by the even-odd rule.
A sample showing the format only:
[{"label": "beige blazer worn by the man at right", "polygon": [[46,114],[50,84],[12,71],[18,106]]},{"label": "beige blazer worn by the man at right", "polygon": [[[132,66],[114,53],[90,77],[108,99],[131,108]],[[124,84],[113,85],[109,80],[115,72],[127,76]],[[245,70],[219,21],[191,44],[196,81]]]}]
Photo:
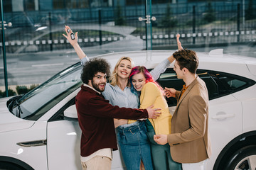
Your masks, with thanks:
[{"label": "beige blazer worn by the man at right", "polygon": [[[180,95],[181,91],[176,91],[176,98]],[[168,142],[171,157],[176,162],[196,163],[210,158],[208,91],[199,77],[196,77],[178,100],[171,118]]]}]

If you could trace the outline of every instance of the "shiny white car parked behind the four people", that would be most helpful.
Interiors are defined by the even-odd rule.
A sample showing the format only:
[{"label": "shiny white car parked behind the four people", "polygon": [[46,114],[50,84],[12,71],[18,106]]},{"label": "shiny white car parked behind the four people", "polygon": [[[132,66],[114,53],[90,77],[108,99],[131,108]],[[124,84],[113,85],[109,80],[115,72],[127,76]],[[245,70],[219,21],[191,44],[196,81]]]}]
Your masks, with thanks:
[{"label": "shiny white car parked behind the four people", "polygon": [[[112,68],[119,57],[152,69],[174,51],[118,52],[100,55]],[[207,169],[256,168],[256,58],[198,52],[197,74],[208,87],[209,131],[213,154]],[[159,78],[181,89],[171,64]],[[80,91],[80,63],[53,76],[23,96],[0,100],[0,169],[81,169],[80,128],[74,103]],[[167,99],[171,113],[176,101]],[[184,153],[186,154],[186,153]],[[114,151],[112,169],[125,169]]]}]

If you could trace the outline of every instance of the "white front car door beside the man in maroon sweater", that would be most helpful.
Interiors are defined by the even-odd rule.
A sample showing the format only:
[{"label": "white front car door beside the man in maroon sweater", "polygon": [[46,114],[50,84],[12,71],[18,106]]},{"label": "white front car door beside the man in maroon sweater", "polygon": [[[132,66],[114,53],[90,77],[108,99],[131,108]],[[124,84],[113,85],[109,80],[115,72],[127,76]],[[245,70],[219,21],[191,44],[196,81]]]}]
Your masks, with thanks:
[{"label": "white front car door beside the man in maroon sweater", "polygon": [[75,96],[48,120],[48,169],[81,169],[78,120],[64,118],[65,109],[73,104]]}]

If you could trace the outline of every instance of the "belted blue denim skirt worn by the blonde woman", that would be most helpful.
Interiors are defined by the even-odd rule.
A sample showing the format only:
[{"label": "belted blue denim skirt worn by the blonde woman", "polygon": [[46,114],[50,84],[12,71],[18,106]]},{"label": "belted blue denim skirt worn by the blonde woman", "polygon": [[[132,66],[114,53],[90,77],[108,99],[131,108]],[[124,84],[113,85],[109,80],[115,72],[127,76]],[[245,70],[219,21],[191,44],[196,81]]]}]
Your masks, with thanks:
[{"label": "belted blue denim skirt worn by the blonde woman", "polygon": [[144,121],[117,127],[117,140],[127,170],[139,170],[141,161],[152,170],[151,149]]}]

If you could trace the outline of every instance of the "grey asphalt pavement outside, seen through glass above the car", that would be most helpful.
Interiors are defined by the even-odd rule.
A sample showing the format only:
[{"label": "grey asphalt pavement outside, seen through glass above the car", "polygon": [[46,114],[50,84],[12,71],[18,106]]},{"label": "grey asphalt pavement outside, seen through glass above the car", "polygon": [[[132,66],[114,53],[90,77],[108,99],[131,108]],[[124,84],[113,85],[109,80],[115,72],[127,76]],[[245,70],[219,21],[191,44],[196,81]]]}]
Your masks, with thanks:
[{"label": "grey asphalt pavement outside, seen through glass above the car", "polygon": [[[145,42],[133,38],[129,40],[112,42],[110,44],[85,47],[82,50],[89,57],[102,55],[111,52],[121,51],[134,51],[143,50]],[[183,47],[185,47],[183,45]],[[176,47],[153,47],[153,50],[176,50]],[[242,55],[248,57],[256,57],[255,43],[249,45],[223,45],[215,47],[196,47],[188,46],[187,48],[195,50],[196,52],[210,52],[210,50],[222,48],[223,53],[230,55]],[[9,88],[14,89],[16,85],[30,85],[41,84],[54,74],[69,67],[76,62],[79,62],[78,56],[75,51],[70,48],[69,50],[60,50],[53,52],[36,52],[26,54],[6,54],[7,58],[7,72]],[[2,57],[1,57],[2,60]],[[3,62],[0,65],[0,90],[4,91],[4,67]]]}]

